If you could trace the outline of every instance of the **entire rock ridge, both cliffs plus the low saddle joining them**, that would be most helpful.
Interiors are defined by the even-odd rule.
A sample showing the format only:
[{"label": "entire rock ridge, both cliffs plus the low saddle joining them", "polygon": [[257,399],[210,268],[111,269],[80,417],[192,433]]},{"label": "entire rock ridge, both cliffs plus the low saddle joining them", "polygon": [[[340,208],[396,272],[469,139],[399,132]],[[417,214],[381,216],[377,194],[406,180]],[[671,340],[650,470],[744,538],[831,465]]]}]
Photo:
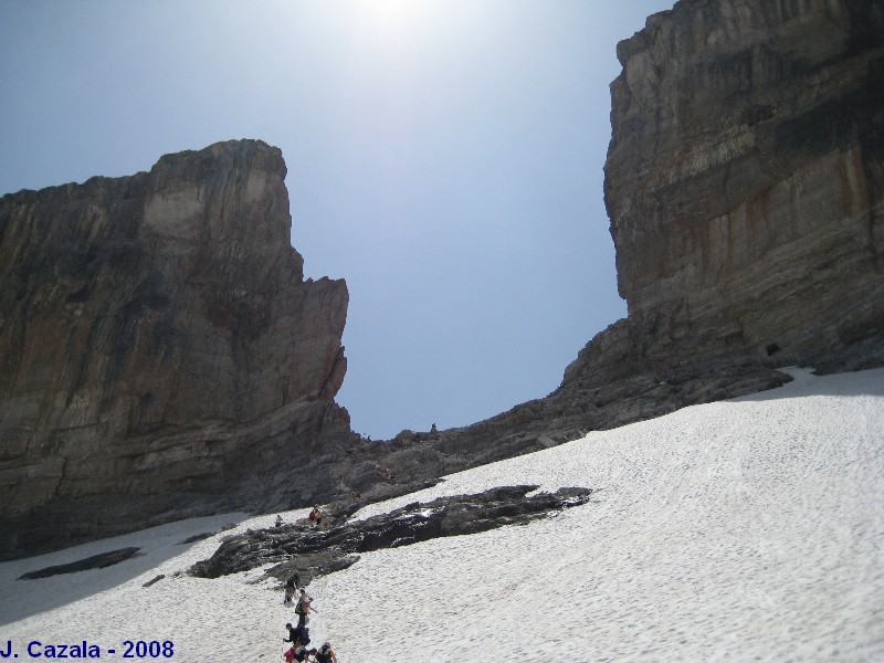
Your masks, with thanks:
[{"label": "entire rock ridge, both cliffs plus the low saddle joining them", "polygon": [[2,554],[402,494],[790,365],[884,365],[882,35],[872,0],[682,0],[621,42],[604,189],[629,317],[548,397],[434,434],[361,441],[334,403],[346,290],[302,278],[278,150],[2,198]]}]

